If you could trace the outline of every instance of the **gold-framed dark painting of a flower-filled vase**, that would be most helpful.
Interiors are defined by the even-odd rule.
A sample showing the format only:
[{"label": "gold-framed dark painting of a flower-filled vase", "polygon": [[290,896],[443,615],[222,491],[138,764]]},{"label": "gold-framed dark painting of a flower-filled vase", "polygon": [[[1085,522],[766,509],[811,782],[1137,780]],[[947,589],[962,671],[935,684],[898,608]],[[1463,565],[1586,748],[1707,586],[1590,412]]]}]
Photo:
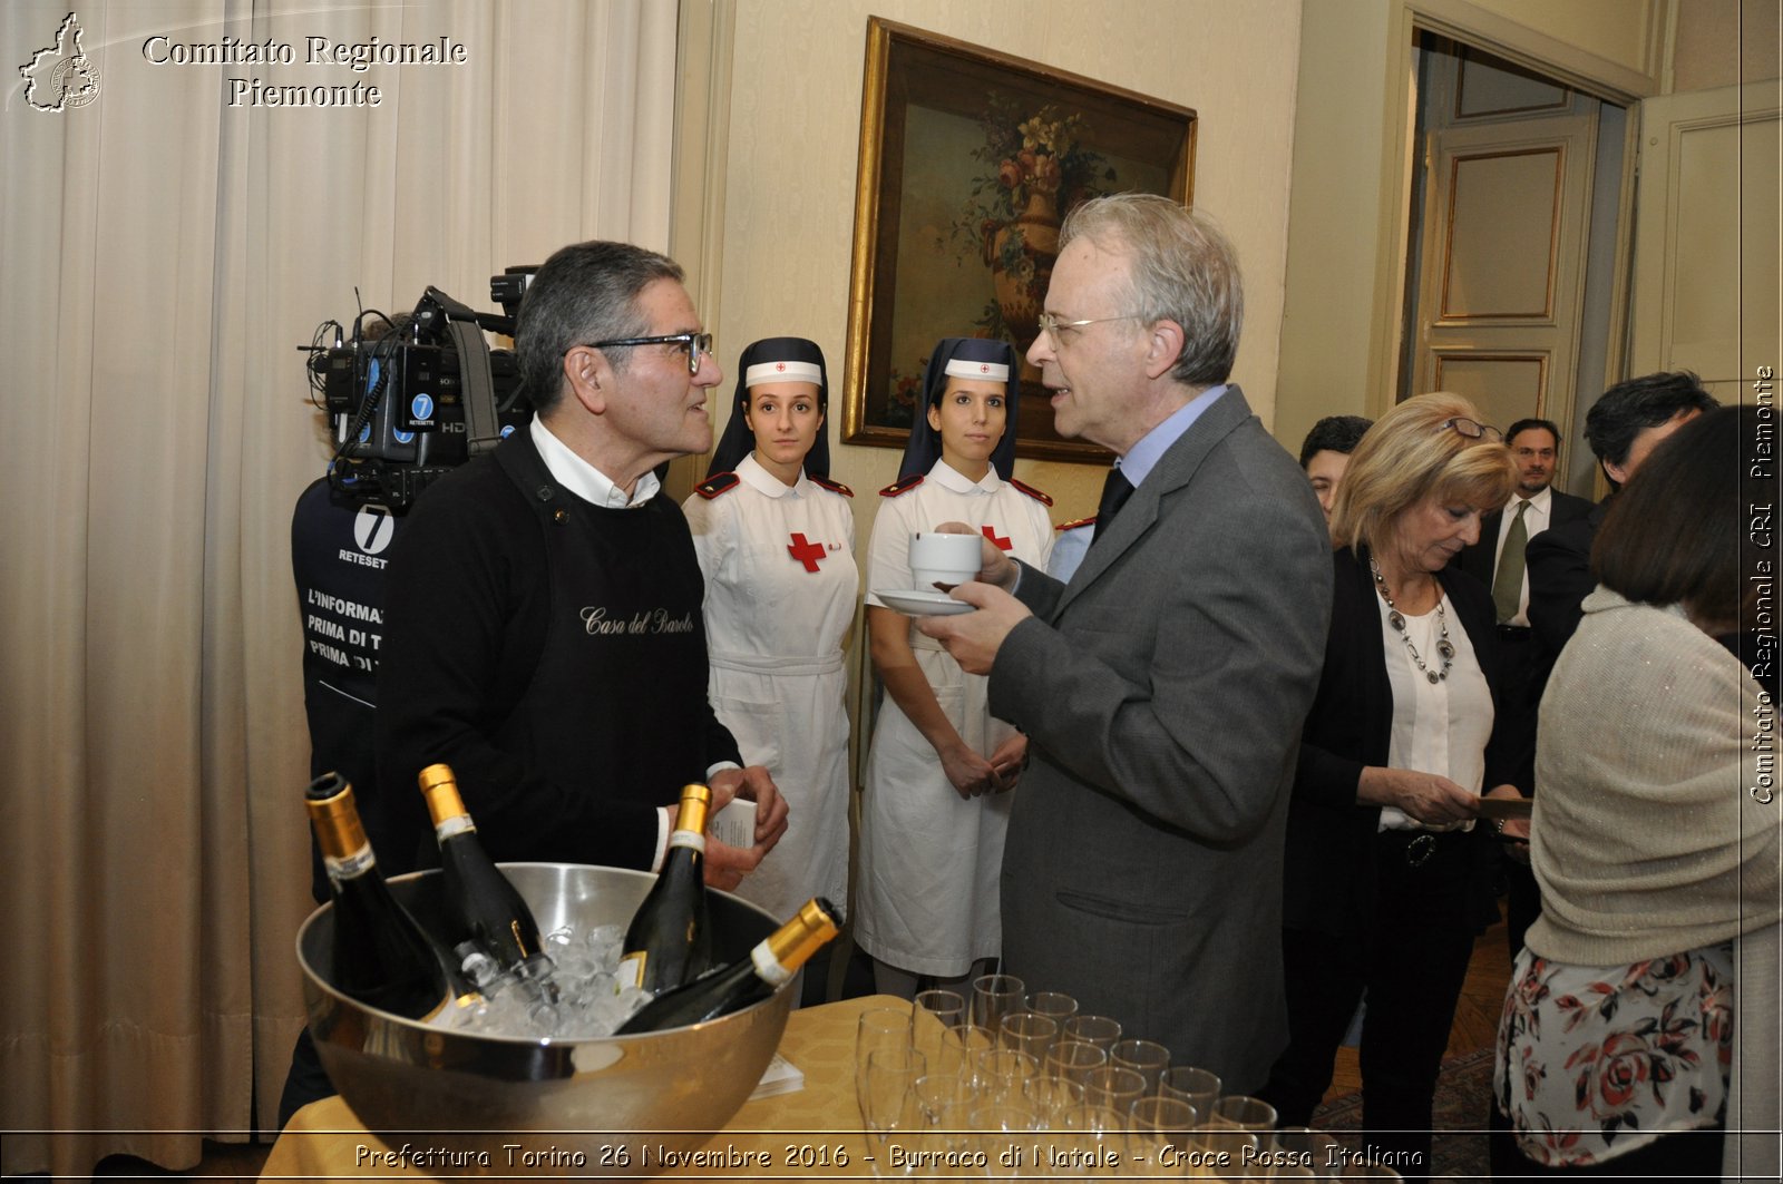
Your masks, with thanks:
[{"label": "gold-framed dark painting of a flower-filled vase", "polygon": [[[941,337],[1018,357],[1059,221],[1105,193],[1195,191],[1195,112],[883,18],[867,25],[843,442],[902,448]],[[1016,455],[1105,464],[1063,439],[1022,360]]]}]

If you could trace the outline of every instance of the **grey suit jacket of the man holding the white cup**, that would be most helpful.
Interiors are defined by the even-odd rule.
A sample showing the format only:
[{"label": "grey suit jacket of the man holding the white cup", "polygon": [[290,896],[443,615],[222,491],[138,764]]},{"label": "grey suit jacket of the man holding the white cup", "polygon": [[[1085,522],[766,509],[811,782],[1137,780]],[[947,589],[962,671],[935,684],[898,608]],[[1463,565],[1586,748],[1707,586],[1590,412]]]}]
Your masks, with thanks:
[{"label": "grey suit jacket of the man holding the white cup", "polygon": [[1282,836],[1330,622],[1330,537],[1237,387],[1061,585],[1025,569],[990,706],[1031,736],[1004,963],[1227,1091],[1287,1043]]}]

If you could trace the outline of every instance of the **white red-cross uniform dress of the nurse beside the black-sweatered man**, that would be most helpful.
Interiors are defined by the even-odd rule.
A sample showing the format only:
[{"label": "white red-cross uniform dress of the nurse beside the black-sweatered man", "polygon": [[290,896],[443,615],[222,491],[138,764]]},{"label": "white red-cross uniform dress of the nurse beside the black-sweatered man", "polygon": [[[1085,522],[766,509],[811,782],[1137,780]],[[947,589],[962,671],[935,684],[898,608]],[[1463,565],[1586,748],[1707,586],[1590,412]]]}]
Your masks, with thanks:
[{"label": "white red-cross uniform dress of the nurse beside the black-sweatered man", "polygon": [[735,489],[694,494],[683,510],[706,574],[713,711],[788,806],[786,835],[736,895],[785,920],[811,897],[849,899],[854,512],[804,474],[783,485],[754,455],[736,476]]}]

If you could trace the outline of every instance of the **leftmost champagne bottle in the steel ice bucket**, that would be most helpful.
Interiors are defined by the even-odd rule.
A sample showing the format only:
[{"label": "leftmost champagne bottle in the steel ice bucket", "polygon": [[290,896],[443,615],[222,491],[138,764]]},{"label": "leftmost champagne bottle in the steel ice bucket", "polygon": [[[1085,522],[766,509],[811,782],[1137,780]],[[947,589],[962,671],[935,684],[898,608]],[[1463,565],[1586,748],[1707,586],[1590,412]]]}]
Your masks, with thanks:
[{"label": "leftmost champagne bottle in the steel ice bucket", "polygon": [[474,997],[451,972],[449,954],[408,915],[378,872],[353,786],[328,772],[305,793],[310,826],[333,890],[333,975],[358,1002],[428,1020]]}]

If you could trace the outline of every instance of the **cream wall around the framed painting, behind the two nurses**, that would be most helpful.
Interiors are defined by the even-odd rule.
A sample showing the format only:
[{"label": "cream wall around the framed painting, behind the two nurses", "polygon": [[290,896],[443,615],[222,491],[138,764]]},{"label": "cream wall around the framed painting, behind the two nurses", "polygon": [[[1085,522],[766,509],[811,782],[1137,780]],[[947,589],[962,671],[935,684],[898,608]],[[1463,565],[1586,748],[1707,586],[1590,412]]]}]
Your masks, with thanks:
[{"label": "cream wall around the framed painting, behind the two nurses", "polygon": [[[1232,235],[1246,278],[1236,380],[1269,423],[1300,0],[744,0],[720,244],[722,401],[738,349],[772,333],[817,341],[840,394],[868,14],[1196,109],[1196,205]],[[865,551],[874,492],[897,476],[899,453],[836,446],[840,407],[829,432]],[[1023,460],[1016,471],[1054,496],[1056,522],[1095,512],[1100,469]]]}]

